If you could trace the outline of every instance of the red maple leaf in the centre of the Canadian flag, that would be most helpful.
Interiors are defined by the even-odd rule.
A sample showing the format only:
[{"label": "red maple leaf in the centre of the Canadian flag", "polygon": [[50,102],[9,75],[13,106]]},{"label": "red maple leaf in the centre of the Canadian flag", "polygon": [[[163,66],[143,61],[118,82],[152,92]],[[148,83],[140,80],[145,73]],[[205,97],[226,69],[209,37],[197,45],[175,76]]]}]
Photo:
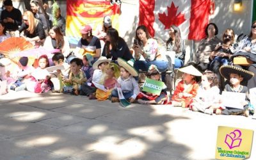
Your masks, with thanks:
[{"label": "red maple leaf in the centre of the Canadian flag", "polygon": [[177,14],[179,6],[175,7],[174,3],[172,2],[171,6],[167,6],[168,15],[163,13],[158,13],[159,20],[164,24],[164,29],[169,29],[170,26],[175,25],[179,26],[182,24],[186,19],[184,17],[184,14],[179,13]]}]

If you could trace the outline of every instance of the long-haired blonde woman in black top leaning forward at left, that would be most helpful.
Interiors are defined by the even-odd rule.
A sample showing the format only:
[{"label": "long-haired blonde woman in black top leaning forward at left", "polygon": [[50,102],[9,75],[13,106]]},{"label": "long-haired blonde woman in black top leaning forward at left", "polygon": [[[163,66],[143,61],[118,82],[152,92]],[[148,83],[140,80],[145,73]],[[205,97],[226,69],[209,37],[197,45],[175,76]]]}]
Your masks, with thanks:
[{"label": "long-haired blonde woman in black top leaning forward at left", "polygon": [[32,42],[36,46],[42,45],[42,40],[45,39],[44,28],[41,22],[35,19],[34,15],[30,11],[23,13],[23,23],[20,28],[15,31],[15,35],[19,35],[24,31],[24,38],[29,42]]}]

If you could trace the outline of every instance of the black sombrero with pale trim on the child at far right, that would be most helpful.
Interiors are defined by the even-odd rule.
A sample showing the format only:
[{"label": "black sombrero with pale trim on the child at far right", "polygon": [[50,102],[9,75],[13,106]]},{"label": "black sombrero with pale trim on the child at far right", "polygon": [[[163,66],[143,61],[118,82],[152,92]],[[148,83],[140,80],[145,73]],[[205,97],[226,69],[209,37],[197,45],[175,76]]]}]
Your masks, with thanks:
[{"label": "black sombrero with pale trim on the child at far right", "polygon": [[244,70],[239,65],[223,65],[220,67],[220,74],[225,79],[230,79],[230,74],[239,74],[243,77],[244,81],[248,81],[254,76],[253,72]]}]

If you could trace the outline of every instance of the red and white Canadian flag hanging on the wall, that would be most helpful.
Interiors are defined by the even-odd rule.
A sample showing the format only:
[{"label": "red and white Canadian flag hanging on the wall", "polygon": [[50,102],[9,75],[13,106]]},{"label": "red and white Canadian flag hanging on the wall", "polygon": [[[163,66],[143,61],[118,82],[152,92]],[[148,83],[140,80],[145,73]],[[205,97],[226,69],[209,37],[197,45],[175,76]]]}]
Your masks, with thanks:
[{"label": "red and white Canadian flag hanging on the wall", "polygon": [[211,0],[140,0],[140,22],[150,35],[168,37],[171,25],[179,26],[183,39],[205,38]]}]

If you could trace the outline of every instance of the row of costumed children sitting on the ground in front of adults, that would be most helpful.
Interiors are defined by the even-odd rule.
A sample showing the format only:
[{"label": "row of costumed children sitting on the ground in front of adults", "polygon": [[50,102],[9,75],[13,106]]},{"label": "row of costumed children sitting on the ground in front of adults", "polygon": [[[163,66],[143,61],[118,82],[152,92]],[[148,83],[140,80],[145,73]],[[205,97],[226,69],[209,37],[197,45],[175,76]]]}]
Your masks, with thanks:
[{"label": "row of costumed children sitting on the ground in front of adults", "polygon": [[[249,116],[248,89],[241,85],[241,82],[248,81],[253,73],[241,67],[223,65],[220,68],[221,76],[230,82],[225,86],[225,91],[246,93],[246,99],[241,102],[244,108],[236,109],[223,106],[216,74],[208,70],[202,74],[192,65],[179,69],[182,72],[182,81],[177,84],[172,97],[169,98],[164,88],[160,94],[142,91],[138,81],[134,78],[138,77],[138,72],[122,58],[110,61],[101,56],[92,64],[93,57],[85,54],[83,60],[73,58],[68,64],[63,54],[56,53],[52,56],[52,62],[60,68],[48,72],[47,56],[43,55],[38,58],[38,68],[29,66],[28,58],[20,58],[16,76],[5,75],[10,89],[15,91],[26,89],[35,93],[52,89],[52,92],[66,92],[86,95],[89,99],[109,99],[111,102],[120,102],[116,88],[121,88],[124,98],[131,103],[168,104],[209,115],[216,113]],[[154,65],[148,68],[147,77],[161,81],[161,74]],[[200,84],[196,81],[196,77],[201,78]]]}]

